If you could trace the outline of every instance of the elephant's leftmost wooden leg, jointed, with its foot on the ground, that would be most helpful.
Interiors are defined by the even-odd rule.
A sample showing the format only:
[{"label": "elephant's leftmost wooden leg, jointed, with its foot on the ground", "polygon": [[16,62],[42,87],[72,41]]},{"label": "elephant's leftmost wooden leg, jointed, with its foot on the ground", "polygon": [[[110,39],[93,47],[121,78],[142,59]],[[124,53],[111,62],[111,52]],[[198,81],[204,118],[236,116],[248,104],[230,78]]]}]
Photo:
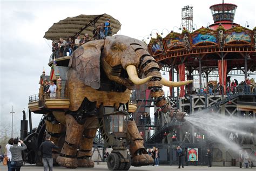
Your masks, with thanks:
[{"label": "elephant's leftmost wooden leg, jointed, with its foot on the ground", "polygon": [[67,168],[77,168],[77,148],[84,130],[84,124],[78,124],[75,118],[70,114],[66,114],[65,119],[65,143],[60,155],[57,158],[57,162],[59,163],[59,165]]}]

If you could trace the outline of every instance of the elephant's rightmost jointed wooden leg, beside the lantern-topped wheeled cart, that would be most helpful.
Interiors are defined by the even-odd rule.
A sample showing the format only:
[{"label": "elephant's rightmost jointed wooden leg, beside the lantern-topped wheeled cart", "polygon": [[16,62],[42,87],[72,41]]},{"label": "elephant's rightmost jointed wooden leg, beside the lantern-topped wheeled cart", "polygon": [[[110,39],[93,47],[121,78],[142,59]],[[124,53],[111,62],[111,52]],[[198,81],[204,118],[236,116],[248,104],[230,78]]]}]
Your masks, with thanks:
[{"label": "elephant's rightmost jointed wooden leg, beside the lantern-topped wheeled cart", "polygon": [[143,145],[144,141],[140,135],[137,125],[134,121],[129,121],[127,125],[127,133],[130,136],[130,154],[132,158],[132,166],[147,166],[153,163],[153,158],[147,154]]}]

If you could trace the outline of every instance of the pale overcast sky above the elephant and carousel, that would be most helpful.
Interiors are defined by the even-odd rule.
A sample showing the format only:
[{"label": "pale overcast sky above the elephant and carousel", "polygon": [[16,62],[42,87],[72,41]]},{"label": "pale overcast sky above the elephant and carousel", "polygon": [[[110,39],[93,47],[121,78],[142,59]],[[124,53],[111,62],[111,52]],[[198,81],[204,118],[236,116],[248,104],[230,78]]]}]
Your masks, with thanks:
[{"label": "pale overcast sky above the elephant and carousel", "polygon": [[[43,38],[53,23],[66,17],[107,13],[122,24],[118,34],[142,39],[153,29],[178,31],[181,8],[193,6],[193,22],[199,29],[213,23],[209,7],[222,1],[1,1],[1,124],[11,124],[14,106],[15,129],[19,129],[22,110],[28,109],[28,97],[38,93],[39,76],[51,54],[50,41]],[[255,0],[228,0],[238,5],[234,22],[250,29],[255,26]],[[153,30],[156,32],[156,30]],[[164,30],[165,35],[167,31]],[[167,74],[166,74],[167,76]],[[41,114],[32,114],[37,127]]]}]

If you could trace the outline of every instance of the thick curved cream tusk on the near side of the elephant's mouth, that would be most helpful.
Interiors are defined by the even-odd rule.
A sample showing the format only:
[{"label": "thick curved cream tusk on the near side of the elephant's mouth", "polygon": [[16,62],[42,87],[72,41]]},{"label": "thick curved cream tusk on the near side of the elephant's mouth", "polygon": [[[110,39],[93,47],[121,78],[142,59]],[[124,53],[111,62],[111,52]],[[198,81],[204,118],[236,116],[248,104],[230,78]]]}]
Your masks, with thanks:
[{"label": "thick curved cream tusk on the near side of the elephant's mouth", "polygon": [[134,83],[135,85],[142,85],[152,78],[152,76],[149,76],[149,77],[140,79],[136,71],[136,66],[134,65],[128,65],[126,67],[126,71],[132,83]]}]

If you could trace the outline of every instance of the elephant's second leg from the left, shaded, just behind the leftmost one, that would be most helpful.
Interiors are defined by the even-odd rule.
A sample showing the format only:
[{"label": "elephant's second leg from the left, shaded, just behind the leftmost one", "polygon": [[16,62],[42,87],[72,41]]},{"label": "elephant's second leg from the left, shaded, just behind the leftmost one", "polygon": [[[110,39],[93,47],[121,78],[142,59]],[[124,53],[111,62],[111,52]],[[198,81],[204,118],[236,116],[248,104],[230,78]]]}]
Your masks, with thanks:
[{"label": "elephant's second leg from the left, shaded, just behind the leftmost one", "polygon": [[93,139],[99,127],[96,116],[87,117],[84,132],[80,141],[77,153],[78,167],[94,167],[94,162],[90,159],[92,155]]}]

